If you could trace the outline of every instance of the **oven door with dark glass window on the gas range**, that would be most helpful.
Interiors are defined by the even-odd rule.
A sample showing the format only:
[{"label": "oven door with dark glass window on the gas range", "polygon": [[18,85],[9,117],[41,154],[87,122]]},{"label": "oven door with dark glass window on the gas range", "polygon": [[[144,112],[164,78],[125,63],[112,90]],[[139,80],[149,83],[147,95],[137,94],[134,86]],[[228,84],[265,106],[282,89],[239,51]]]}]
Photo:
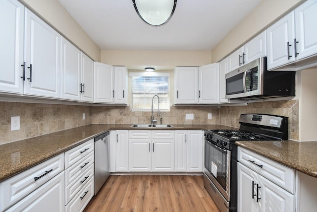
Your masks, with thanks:
[{"label": "oven door with dark glass window on the gas range", "polygon": [[206,175],[228,202],[230,201],[230,159],[230,150],[205,139]]}]

